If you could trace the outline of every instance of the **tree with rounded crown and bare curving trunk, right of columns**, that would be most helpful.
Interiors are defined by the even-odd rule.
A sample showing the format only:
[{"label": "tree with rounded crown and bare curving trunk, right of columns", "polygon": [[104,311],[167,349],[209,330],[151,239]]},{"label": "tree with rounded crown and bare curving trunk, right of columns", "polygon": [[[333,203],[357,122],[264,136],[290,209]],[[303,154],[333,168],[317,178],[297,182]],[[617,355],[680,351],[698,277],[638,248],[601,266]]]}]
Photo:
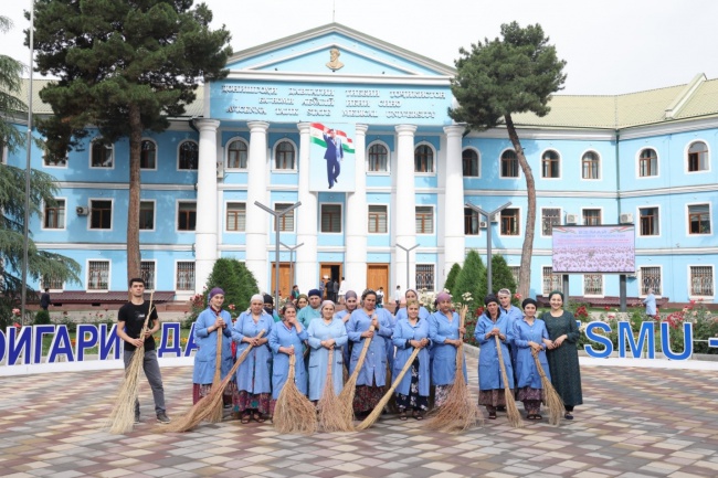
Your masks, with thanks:
[{"label": "tree with rounded crown and bare curving trunk, right of columns", "polygon": [[503,24],[501,36],[472,44],[471,51],[460,50],[462,56],[455,62],[457,72],[452,79],[452,93],[460,106],[450,109],[448,116],[477,130],[506,126],[528,193],[518,284],[521,297],[528,297],[536,226],[536,185],[511,115],[531,111],[546,116],[550,110],[551,94],[562,89],[566,82],[566,62],[558,59],[556,47],[549,44],[549,38],[543,35],[539,24],[526,28],[517,22]]}]

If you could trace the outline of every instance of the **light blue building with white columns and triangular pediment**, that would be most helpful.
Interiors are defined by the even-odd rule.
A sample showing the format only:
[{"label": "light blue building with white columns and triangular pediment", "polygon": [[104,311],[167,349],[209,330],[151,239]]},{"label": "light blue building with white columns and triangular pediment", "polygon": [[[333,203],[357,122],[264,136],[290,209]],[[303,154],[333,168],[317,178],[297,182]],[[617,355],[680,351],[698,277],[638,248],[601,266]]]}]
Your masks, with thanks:
[{"label": "light blue building with white columns and triangular pediment", "polygon": [[[351,288],[437,289],[468,249],[494,253],[518,273],[527,213],[525,179],[505,129],[465,134],[446,110],[454,68],[332,23],[236,53],[161,134],[142,140],[142,270],[178,299],[200,291],[218,257],[244,261],[274,289],[275,225],[255,205],[302,205],[279,223],[281,284],[300,290],[325,276]],[[34,86],[38,91],[42,81]],[[556,224],[634,223],[636,270],[627,294],[716,302],[718,79],[617,96],[556,95],[542,118],[515,123],[534,170],[537,224],[531,295],[560,284],[551,270]],[[50,114],[38,102],[35,113]],[[314,190],[313,125],[353,144],[344,190]],[[336,126],[335,126],[336,125]],[[20,129],[23,125],[18,125]],[[31,224],[44,249],[83,267],[83,284],[52,290],[126,289],[128,141],[93,145],[32,167],[53,174],[57,206]],[[3,161],[24,164],[24,151]],[[315,158],[316,159],[316,158]],[[349,181],[349,185],[346,182]],[[342,183],[345,182],[345,183]],[[493,210],[493,224],[465,209]],[[409,254],[397,244],[410,248]],[[292,274],[296,280],[292,279]],[[40,286],[40,285],[38,285]],[[617,296],[614,275],[572,275],[571,295]]]}]

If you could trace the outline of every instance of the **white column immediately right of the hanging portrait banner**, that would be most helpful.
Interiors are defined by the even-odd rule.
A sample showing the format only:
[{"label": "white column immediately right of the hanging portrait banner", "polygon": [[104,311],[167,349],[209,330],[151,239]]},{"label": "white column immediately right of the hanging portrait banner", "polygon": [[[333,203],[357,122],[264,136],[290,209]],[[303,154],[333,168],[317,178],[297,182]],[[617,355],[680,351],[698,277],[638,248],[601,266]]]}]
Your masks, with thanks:
[{"label": "white column immediately right of the hanging portrait banner", "polygon": [[355,138],[355,192],[347,195],[347,269],[344,276],[361,294],[367,287],[367,125],[357,125]]}]

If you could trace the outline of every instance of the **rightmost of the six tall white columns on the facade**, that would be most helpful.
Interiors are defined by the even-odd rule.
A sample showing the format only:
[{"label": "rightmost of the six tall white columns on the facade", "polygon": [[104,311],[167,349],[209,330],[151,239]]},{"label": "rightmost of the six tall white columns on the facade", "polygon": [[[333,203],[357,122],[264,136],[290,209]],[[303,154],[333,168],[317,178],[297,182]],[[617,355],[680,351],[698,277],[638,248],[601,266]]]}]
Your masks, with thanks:
[{"label": "rightmost of the six tall white columns on the facade", "polygon": [[[441,284],[454,263],[464,264],[464,171],[462,169],[462,135],[464,127],[460,125],[444,127],[446,134],[446,168],[444,180],[445,202],[444,222],[444,264]],[[443,267],[442,267],[443,266]],[[441,272],[441,269],[439,270]]]}]

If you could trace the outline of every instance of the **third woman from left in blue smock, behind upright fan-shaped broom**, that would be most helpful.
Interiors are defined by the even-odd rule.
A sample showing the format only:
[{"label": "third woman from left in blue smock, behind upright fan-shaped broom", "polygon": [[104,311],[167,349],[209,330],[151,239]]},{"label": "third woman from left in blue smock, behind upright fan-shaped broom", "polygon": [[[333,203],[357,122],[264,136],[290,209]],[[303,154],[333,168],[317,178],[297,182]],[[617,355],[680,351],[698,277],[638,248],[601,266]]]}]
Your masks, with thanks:
[{"label": "third woman from left in blue smock, behind upright fan-shaped broom", "polygon": [[295,355],[294,383],[297,390],[307,394],[307,369],[304,364],[304,341],[307,340],[307,331],[297,320],[297,306],[286,302],[282,307],[282,320],[274,322],[270,333],[270,349],[272,349],[272,402],[270,414],[274,415],[274,406],[284,389],[289,374],[289,355]]}]

